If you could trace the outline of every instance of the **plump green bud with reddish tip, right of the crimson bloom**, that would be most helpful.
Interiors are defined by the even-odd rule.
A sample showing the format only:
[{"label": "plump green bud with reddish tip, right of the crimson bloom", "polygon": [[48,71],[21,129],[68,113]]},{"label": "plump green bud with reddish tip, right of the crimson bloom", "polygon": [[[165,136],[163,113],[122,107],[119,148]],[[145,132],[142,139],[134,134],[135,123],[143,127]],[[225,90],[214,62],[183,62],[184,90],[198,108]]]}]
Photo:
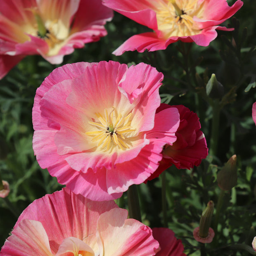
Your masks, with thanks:
[{"label": "plump green bud with reddish tip, right of the crimson bloom", "polygon": [[228,162],[217,174],[218,186],[222,190],[231,190],[237,185],[237,156],[230,157]]}]

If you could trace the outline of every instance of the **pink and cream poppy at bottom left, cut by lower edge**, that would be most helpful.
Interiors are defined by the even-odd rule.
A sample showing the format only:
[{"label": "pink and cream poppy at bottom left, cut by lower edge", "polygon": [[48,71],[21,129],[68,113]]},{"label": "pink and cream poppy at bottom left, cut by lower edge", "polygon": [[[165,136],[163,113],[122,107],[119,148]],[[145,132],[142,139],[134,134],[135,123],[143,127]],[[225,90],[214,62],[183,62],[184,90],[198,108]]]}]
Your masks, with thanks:
[{"label": "pink and cream poppy at bottom left, cut by lower edge", "polygon": [[21,213],[0,255],[155,255],[152,230],[127,215],[114,201],[91,201],[64,188]]}]

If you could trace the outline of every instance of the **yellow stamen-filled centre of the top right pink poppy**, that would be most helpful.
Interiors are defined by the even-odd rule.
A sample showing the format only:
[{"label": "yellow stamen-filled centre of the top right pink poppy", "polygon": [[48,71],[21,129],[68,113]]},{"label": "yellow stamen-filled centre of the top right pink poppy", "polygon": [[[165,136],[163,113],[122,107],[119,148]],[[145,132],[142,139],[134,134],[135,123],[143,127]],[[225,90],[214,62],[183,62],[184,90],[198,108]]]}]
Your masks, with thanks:
[{"label": "yellow stamen-filled centre of the top right pink poppy", "polygon": [[156,12],[157,26],[164,38],[171,36],[192,36],[199,33],[194,16],[202,17],[204,1],[167,0],[160,2]]}]

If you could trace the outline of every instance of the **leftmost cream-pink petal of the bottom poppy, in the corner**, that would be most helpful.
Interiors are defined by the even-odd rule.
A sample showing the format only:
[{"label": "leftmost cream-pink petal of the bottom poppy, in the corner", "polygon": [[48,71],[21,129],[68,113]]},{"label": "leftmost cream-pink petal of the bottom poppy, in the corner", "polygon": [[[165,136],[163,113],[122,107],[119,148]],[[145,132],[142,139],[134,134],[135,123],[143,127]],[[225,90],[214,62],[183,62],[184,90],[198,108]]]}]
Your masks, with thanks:
[{"label": "leftmost cream-pink petal of the bottom poppy, in the corner", "polygon": [[12,231],[1,250],[5,256],[53,256],[42,223],[23,219]]}]

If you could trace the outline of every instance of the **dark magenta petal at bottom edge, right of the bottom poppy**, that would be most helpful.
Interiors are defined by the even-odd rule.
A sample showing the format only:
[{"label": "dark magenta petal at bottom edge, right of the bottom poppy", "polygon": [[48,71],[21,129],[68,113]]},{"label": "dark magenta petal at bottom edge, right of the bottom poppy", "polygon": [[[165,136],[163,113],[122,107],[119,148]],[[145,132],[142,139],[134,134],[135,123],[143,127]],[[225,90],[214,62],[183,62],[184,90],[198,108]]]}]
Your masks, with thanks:
[{"label": "dark magenta petal at bottom edge, right of the bottom poppy", "polygon": [[153,237],[159,242],[161,250],[156,256],[185,256],[184,247],[180,239],[176,239],[174,232],[168,228],[153,228]]}]

